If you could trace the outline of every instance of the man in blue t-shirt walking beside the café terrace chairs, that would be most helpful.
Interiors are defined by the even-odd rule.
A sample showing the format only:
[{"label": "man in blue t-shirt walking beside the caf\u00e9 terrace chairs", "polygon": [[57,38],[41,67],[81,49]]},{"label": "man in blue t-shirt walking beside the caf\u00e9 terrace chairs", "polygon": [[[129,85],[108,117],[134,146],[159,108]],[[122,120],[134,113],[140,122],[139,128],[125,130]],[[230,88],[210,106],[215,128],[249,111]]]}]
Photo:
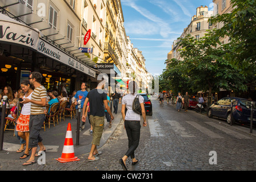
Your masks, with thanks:
[{"label": "man in blue t-shirt walking beside the caf\u00e9 terrace chairs", "polygon": [[[76,109],[76,118],[78,117],[78,101],[81,100],[81,109],[83,110],[83,103],[85,102],[85,98],[87,97],[88,92],[86,91],[87,84],[85,82],[82,82],[81,90],[77,91],[75,94],[75,109]],[[81,117],[80,122],[82,120],[82,110],[81,110]],[[85,122],[82,122],[82,129],[85,129]]]}]

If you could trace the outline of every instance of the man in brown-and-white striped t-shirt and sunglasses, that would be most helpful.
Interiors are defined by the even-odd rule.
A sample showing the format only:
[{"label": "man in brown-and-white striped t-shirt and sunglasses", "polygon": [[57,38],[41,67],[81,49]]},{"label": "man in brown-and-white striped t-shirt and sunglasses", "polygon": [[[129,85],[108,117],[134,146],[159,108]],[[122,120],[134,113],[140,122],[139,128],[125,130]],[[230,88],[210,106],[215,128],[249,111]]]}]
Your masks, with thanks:
[{"label": "man in brown-and-white striped t-shirt and sunglasses", "polygon": [[[39,72],[32,72],[29,76],[31,85],[34,85],[35,89],[31,96],[31,100],[26,98],[21,104],[31,102],[30,121],[29,121],[29,148],[31,148],[31,156],[27,162],[23,163],[22,166],[29,166],[35,162],[35,156],[40,156],[41,153],[46,151],[45,146],[42,143],[42,138],[39,134],[43,122],[45,121],[45,110],[46,110],[46,98],[47,92],[43,85],[41,85],[42,75]],[[37,154],[37,146],[40,147]]]}]

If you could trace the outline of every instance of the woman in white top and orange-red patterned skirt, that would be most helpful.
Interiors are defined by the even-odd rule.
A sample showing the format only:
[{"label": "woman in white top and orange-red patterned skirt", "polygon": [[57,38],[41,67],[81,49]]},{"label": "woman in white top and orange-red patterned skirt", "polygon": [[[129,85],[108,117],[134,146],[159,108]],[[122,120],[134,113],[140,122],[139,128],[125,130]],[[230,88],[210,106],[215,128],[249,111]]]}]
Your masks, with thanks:
[{"label": "woman in white top and orange-red patterned skirt", "polygon": [[[30,85],[29,80],[23,80],[21,82],[21,88],[26,93],[23,97],[23,100],[25,98],[31,99],[32,93],[33,93],[33,85]],[[19,159],[25,159],[29,156],[29,118],[30,118],[30,109],[31,109],[31,102],[28,102],[27,104],[23,104],[21,115],[19,115],[19,118],[17,120],[17,126],[16,131],[18,131],[19,137],[26,140],[26,150],[24,154]]]}]

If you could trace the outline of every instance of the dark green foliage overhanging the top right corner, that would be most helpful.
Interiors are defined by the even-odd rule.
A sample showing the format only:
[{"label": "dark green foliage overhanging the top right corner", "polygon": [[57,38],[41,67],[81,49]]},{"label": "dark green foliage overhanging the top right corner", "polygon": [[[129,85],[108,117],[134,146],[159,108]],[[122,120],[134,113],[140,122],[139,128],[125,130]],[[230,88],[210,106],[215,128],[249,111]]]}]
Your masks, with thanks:
[{"label": "dark green foliage overhanging the top right corner", "polygon": [[223,27],[216,31],[217,36],[229,36],[236,44],[233,54],[229,56],[251,75],[256,68],[256,1],[231,0],[232,13],[217,15],[210,19],[211,23],[222,23]]}]

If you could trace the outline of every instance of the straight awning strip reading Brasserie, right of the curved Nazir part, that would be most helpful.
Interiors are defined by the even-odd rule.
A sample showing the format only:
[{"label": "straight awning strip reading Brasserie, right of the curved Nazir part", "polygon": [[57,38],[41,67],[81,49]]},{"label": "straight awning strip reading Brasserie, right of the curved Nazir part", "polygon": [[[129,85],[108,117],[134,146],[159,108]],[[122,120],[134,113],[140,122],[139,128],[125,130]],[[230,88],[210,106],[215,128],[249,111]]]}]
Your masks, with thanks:
[{"label": "straight awning strip reading Brasserie, right of the curved Nazir part", "polygon": [[54,60],[60,61],[63,64],[69,65],[74,69],[77,69],[83,73],[86,73],[87,75],[90,75],[94,78],[96,76],[96,72],[94,72],[92,69],[80,63],[79,61],[75,60],[73,57],[70,57],[66,53],[59,50],[58,48],[55,48],[51,44],[45,42],[45,40],[43,39],[40,39],[37,51]]}]

